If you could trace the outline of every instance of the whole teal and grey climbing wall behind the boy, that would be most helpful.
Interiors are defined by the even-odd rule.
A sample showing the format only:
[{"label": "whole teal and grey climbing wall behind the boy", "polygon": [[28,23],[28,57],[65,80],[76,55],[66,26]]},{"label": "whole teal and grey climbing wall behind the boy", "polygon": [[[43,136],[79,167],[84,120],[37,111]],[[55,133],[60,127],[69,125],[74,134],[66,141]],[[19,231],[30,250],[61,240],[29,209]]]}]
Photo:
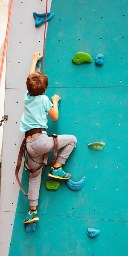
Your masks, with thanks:
[{"label": "whole teal and grey climbing wall behind the boy", "polygon": [[[59,119],[48,121],[48,134],[73,134],[77,145],[64,170],[72,180],[86,176],[84,187],[70,190],[64,181],[56,191],[41,180],[35,232],[26,233],[23,218],[29,202],[15,180],[19,131],[32,54],[42,52],[44,25],[35,28],[33,12],[45,12],[44,0],[14,0],[10,28],[1,183],[2,255],[6,256],[127,256],[128,255],[128,17],[125,0],[52,0],[49,11],[44,73],[47,96],[61,96]],[[50,6],[51,5],[51,6]],[[76,65],[76,52],[87,52],[93,62]],[[105,56],[102,66],[97,54]],[[39,71],[39,69],[37,69]],[[102,151],[88,143],[104,142]],[[29,174],[20,170],[28,191]],[[18,194],[19,192],[19,194]],[[100,230],[89,238],[87,228]],[[6,246],[5,246],[6,245]],[[10,250],[9,250],[10,246]]]}]

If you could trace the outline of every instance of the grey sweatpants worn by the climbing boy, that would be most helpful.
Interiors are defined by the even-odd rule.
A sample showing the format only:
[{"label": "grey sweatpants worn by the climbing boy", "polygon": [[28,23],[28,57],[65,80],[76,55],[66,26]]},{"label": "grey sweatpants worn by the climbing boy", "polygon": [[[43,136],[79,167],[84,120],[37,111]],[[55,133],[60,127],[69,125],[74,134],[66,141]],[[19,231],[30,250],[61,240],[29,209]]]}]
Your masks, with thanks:
[{"label": "grey sweatpants worn by the climbing boy", "polygon": [[[58,135],[58,148],[61,148],[56,162],[64,164],[66,159],[76,145],[76,137],[73,135]],[[42,161],[44,154],[54,150],[54,140],[52,137],[48,137],[47,134],[39,134],[32,139],[26,140],[27,151],[30,156],[38,163],[32,161],[28,157],[29,169],[35,169],[36,172],[30,173],[29,176],[29,205],[37,206],[39,190],[41,185],[41,172],[42,172]]]}]

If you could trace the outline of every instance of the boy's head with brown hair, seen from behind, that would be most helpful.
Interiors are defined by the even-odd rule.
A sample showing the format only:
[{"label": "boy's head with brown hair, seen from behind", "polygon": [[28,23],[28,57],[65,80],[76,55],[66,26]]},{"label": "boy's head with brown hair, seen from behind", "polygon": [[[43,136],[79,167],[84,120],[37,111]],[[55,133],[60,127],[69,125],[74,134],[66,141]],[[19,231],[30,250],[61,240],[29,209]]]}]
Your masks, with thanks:
[{"label": "boy's head with brown hair, seen from behind", "polygon": [[48,77],[41,72],[35,72],[27,77],[26,86],[31,96],[45,93],[48,86]]}]

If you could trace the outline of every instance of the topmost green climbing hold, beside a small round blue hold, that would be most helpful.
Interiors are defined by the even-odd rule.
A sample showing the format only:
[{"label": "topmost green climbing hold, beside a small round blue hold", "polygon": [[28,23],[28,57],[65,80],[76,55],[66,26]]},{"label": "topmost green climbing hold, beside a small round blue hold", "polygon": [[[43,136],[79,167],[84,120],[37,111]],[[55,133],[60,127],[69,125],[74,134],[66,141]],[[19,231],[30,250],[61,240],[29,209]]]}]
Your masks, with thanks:
[{"label": "topmost green climbing hold, beside a small round blue hold", "polygon": [[92,62],[92,58],[86,52],[77,52],[76,55],[72,58],[72,61],[75,64],[81,64],[84,62]]}]

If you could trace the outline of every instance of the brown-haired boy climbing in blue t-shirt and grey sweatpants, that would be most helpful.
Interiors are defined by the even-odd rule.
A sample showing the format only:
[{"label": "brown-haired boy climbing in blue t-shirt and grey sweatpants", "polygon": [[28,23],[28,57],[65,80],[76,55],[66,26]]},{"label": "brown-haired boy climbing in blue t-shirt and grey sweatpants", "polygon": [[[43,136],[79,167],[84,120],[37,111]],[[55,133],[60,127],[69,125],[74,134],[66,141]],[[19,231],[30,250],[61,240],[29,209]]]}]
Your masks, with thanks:
[{"label": "brown-haired boy climbing in blue t-shirt and grey sweatpants", "polygon": [[[52,103],[45,95],[48,78],[46,75],[36,72],[36,63],[42,57],[40,52],[33,55],[32,64],[29,76],[26,81],[27,92],[25,95],[24,112],[20,120],[20,131],[26,132],[33,128],[47,129],[47,113],[53,121],[58,119],[58,101],[59,96],[52,96]],[[54,140],[47,135],[47,132],[33,134],[26,137],[26,149],[29,169],[34,169],[36,172],[30,173],[29,176],[29,205],[30,211],[24,219],[24,223],[38,221],[36,206],[38,205],[38,196],[41,183],[41,169],[44,154],[54,150]],[[62,169],[62,164],[65,163],[70,153],[76,145],[76,137],[73,135],[58,135],[58,148],[61,151],[58,154],[54,166],[51,167],[49,176],[60,179],[69,179],[70,174]]]}]

